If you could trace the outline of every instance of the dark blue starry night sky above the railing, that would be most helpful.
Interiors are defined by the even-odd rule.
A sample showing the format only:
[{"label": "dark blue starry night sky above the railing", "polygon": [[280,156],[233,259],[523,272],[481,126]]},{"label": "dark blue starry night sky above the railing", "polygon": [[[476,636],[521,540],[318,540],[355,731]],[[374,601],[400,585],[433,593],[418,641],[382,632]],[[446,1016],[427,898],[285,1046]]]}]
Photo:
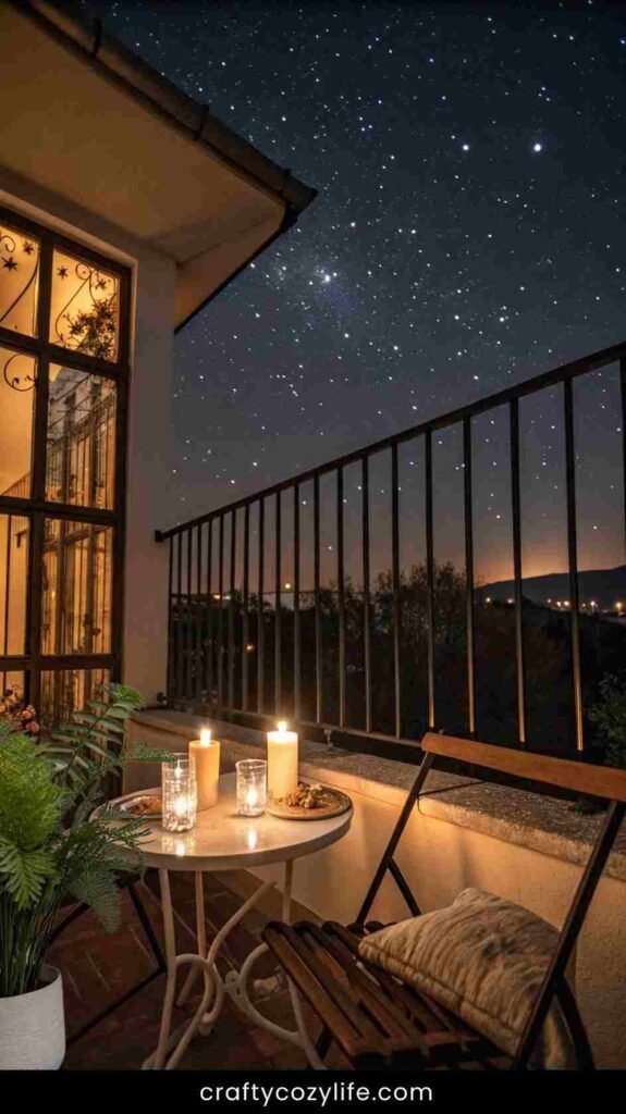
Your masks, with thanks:
[{"label": "dark blue starry night sky above the railing", "polygon": [[[320,190],[176,340],[159,525],[624,339],[619,6],[86,8]],[[578,382],[575,401],[579,563],[608,567],[624,561],[617,370]],[[507,423],[475,422],[479,579],[511,573]],[[522,403],[520,433],[524,570],[536,575],[566,567],[558,392]],[[462,553],[460,461],[460,434],[438,436],[441,559]],[[400,468],[408,563],[423,548],[419,444]],[[346,475],[348,516],[358,485]],[[372,489],[382,520],[383,459]],[[385,566],[384,545],[375,559]]]}]

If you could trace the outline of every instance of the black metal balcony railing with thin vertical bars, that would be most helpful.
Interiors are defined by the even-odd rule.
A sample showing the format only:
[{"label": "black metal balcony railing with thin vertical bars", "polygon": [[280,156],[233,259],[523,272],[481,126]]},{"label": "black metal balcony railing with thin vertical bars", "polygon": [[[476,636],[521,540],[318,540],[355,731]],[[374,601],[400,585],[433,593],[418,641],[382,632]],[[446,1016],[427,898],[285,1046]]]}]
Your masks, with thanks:
[{"label": "black metal balcony railing with thin vertical bars", "polygon": [[[619,416],[610,514],[620,548],[626,343],[158,532],[169,546],[170,704],[244,723],[291,719],[382,754],[427,729],[583,752],[598,683],[623,666],[626,646],[626,629],[579,593],[576,384],[598,373]],[[558,607],[525,596],[522,465],[536,468],[538,405],[564,477]],[[496,441],[500,460],[486,463]],[[490,599],[475,573],[477,548],[492,547],[480,489],[486,477],[493,486],[497,463],[496,518],[510,535],[505,600]],[[558,524],[548,517],[544,530],[556,537]]]}]

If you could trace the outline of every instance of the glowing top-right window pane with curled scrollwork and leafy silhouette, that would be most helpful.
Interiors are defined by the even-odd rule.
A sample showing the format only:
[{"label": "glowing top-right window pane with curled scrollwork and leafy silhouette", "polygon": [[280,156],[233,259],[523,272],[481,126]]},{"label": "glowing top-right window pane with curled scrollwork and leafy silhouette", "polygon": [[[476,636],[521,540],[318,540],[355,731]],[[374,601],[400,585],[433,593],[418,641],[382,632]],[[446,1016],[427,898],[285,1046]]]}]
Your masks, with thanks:
[{"label": "glowing top-right window pane with curled scrollwork and leafy silhouette", "polygon": [[[75,352],[113,360],[117,340],[116,281],[87,263],[78,262],[74,271],[79,284],[57,314],[56,340]],[[63,282],[69,277],[69,268],[58,266],[57,277]],[[85,293],[89,296],[88,309],[85,309]]]}]

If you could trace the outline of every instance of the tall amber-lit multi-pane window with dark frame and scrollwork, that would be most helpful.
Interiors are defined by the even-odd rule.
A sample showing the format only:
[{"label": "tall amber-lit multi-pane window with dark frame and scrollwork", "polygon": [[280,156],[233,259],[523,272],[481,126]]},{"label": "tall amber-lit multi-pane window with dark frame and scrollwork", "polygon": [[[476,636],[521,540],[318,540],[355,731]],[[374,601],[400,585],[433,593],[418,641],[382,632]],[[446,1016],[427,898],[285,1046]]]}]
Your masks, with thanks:
[{"label": "tall amber-lit multi-pane window with dark frame and scrollwork", "polygon": [[0,208],[0,717],[120,675],[129,272]]}]

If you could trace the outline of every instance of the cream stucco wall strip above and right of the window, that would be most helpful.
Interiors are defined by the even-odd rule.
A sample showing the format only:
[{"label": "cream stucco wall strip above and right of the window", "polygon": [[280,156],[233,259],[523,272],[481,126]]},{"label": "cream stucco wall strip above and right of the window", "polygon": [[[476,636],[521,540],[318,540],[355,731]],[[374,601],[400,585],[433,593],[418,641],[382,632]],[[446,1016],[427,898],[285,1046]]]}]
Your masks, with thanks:
[{"label": "cream stucco wall strip above and right of the window", "polygon": [[133,271],[131,375],[128,416],[124,681],[154,702],[167,667],[167,549],[154,531],[167,526],[175,264],[96,214],[0,167],[0,203]]}]

